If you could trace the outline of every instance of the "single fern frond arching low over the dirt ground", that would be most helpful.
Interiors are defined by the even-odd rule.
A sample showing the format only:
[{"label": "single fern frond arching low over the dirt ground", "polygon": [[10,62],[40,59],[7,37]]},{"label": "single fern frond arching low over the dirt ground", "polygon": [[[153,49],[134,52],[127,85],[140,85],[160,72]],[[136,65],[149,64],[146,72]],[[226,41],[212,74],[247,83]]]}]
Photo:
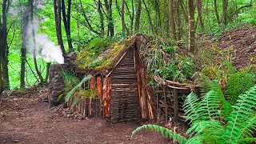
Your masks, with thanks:
[{"label": "single fern frond arching low over the dirt ground", "polygon": [[166,138],[174,138],[174,141],[180,142],[181,144],[183,144],[183,143],[185,144],[187,141],[186,138],[182,137],[180,134],[176,134],[173,131],[171,131],[165,127],[157,126],[157,125],[140,126],[132,132],[132,137],[134,136],[135,133],[137,133],[140,130],[144,130],[144,129],[157,131],[157,132],[161,133],[162,136],[164,136]]}]

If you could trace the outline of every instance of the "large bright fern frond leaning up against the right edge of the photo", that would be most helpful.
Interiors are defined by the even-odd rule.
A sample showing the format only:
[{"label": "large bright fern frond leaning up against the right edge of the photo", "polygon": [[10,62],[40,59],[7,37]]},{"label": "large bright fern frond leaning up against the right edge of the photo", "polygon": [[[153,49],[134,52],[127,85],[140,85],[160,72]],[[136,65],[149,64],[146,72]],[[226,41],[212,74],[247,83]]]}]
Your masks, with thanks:
[{"label": "large bright fern frond leaning up against the right edge of the photo", "polygon": [[256,121],[253,121],[252,114],[256,109],[256,86],[251,87],[245,94],[240,94],[237,104],[233,108],[225,134],[229,143],[237,143],[244,134],[251,134],[250,128],[255,128]]}]

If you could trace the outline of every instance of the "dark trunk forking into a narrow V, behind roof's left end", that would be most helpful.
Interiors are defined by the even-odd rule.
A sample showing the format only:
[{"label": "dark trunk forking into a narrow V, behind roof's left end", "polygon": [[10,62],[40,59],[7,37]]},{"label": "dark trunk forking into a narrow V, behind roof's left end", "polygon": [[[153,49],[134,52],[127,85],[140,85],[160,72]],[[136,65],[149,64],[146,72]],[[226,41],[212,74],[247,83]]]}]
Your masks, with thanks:
[{"label": "dark trunk forking into a narrow V, behind roof's left end", "polygon": [[74,48],[72,46],[72,38],[70,33],[70,12],[71,12],[71,0],[67,1],[67,13],[66,13],[66,6],[65,1],[62,0],[62,21],[64,23],[64,27],[66,30],[66,38],[67,43],[69,45],[69,51],[74,51]]}]

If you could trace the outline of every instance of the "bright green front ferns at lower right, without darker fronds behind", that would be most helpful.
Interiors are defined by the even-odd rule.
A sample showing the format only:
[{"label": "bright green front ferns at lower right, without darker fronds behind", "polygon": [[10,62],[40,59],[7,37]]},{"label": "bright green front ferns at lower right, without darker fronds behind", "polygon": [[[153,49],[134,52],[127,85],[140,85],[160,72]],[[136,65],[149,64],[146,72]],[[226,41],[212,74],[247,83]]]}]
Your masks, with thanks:
[{"label": "bright green front ferns at lower right, without darker fronds behind", "polygon": [[211,90],[206,93],[202,101],[196,94],[191,93],[184,104],[186,120],[190,120],[191,127],[186,131],[190,138],[186,139],[167,128],[154,125],[144,125],[133,131],[148,129],[161,132],[166,138],[174,138],[180,143],[238,143],[256,142],[251,138],[256,130],[256,85],[240,94],[228,121],[222,121],[222,105],[218,92]]}]

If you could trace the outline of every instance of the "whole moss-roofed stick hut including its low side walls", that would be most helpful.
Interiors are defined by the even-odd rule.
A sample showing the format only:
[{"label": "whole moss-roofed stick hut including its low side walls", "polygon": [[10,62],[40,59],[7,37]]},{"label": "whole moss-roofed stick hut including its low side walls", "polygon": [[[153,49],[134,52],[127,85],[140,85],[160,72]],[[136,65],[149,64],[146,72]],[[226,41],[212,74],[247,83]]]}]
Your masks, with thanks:
[{"label": "whole moss-roofed stick hut including its low side walls", "polygon": [[66,99],[67,105],[83,117],[104,117],[111,122],[182,121],[183,95],[197,86],[168,81],[158,73],[175,59],[176,53],[170,54],[168,46],[161,38],[140,34],[118,42],[91,41],[74,62],[76,78],[91,77]]}]

